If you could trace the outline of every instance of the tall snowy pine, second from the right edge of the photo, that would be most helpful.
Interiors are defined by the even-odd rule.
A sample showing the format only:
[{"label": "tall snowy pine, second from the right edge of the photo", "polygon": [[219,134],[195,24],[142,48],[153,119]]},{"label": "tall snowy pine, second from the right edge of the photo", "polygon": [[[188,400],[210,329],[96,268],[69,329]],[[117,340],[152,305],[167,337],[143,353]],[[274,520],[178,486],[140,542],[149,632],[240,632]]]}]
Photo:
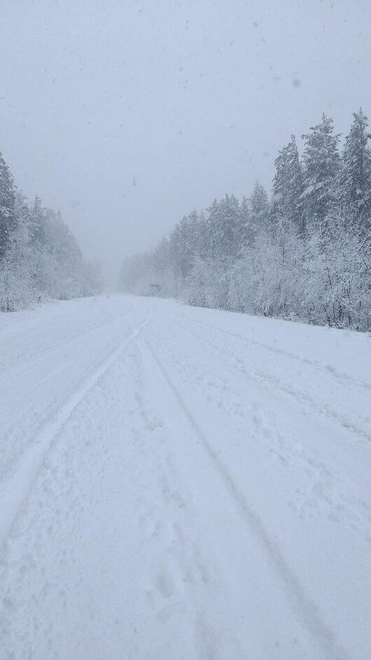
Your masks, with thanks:
[{"label": "tall snowy pine, second from the right edge of the photo", "polygon": [[323,226],[337,204],[337,175],[340,157],[339,135],[333,135],[332,119],[323,114],[321,123],[303,135],[304,149],[304,212],[307,225]]}]

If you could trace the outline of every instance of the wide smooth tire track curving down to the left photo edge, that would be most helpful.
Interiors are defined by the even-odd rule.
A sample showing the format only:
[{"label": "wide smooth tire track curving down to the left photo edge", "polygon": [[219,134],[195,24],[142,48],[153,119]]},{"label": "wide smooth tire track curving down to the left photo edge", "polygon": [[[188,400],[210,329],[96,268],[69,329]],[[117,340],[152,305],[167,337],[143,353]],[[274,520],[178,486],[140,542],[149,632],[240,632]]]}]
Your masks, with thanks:
[{"label": "wide smooth tire track curving down to the left photo edge", "polygon": [[18,465],[3,479],[0,484],[0,545],[3,544],[6,535],[10,529],[16,514],[22,507],[31,489],[34,480],[38,474],[45,453],[50,444],[59,434],[66,421],[81,401],[97,384],[99,378],[120,358],[127,345],[129,345],[141,333],[148,319],[144,321],[136,330],[125,338],[109,355],[105,357],[98,366],[90,372],[82,384],[76,387],[69,400],[59,409],[55,419],[50,424],[45,425],[38,440],[27,448],[23,453]]}]

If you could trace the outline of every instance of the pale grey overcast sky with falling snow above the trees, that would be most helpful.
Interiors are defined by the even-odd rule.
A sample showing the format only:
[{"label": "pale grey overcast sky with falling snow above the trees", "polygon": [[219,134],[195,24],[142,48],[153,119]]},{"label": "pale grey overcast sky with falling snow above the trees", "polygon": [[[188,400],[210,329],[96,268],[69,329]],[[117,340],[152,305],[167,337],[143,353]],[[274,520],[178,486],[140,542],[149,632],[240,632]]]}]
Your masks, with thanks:
[{"label": "pale grey overcast sky with falling snow above the trees", "polygon": [[371,115],[370,0],[0,0],[0,151],[115,282],[324,111]]}]

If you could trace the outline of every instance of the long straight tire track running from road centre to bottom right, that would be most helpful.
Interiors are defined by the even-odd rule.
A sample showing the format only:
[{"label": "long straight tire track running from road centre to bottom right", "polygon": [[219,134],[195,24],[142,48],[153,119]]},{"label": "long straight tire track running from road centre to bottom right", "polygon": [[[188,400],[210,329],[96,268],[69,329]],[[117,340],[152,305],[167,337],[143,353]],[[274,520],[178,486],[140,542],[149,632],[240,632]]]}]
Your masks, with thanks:
[{"label": "long straight tire track running from road centre to bottom right", "polygon": [[295,575],[295,572],[286,561],[279,546],[269,537],[260,518],[255,514],[255,511],[253,511],[246,501],[246,498],[243,493],[241,493],[241,490],[239,490],[237,483],[232,479],[228,469],[226,469],[225,465],[223,465],[218,459],[218,455],[214,452],[207,436],[205,436],[204,432],[197,424],[197,421],[193,417],[185,401],[183,401],[181,394],[179,394],[179,391],[176,389],[169,373],[158,359],[150,343],[148,343],[147,338],[145,338],[145,343],[153,361],[158,366],[158,371],[162,375],[162,380],[165,380],[170,392],[172,392],[172,398],[176,400],[179,408],[181,408],[181,411],[183,412],[183,417],[186,418],[200,445],[209,456],[212,465],[214,465],[214,469],[216,469],[216,472],[221,477],[225,489],[235,503],[241,518],[248,527],[248,530],[253,532],[253,535],[262,548],[274,575],[279,578],[294,614],[300,617],[302,624],[307,628],[307,631],[311,634],[316,645],[320,647],[321,652],[324,653],[326,659],[351,660],[349,653],[337,641],[335,633],[325,621],[323,621],[321,612],[318,611],[318,607],[315,603],[311,602],[307,593],[305,593],[302,584],[300,584],[297,575]]}]

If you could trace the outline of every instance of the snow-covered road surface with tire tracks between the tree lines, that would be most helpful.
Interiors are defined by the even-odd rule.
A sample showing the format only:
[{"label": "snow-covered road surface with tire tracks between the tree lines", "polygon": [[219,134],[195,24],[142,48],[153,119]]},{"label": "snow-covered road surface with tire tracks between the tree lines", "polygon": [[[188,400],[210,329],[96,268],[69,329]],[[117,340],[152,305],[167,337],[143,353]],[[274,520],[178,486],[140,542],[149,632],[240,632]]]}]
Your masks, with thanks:
[{"label": "snow-covered road surface with tire tracks between the tree lines", "polygon": [[148,298],[0,316],[0,658],[369,660],[371,341]]}]

